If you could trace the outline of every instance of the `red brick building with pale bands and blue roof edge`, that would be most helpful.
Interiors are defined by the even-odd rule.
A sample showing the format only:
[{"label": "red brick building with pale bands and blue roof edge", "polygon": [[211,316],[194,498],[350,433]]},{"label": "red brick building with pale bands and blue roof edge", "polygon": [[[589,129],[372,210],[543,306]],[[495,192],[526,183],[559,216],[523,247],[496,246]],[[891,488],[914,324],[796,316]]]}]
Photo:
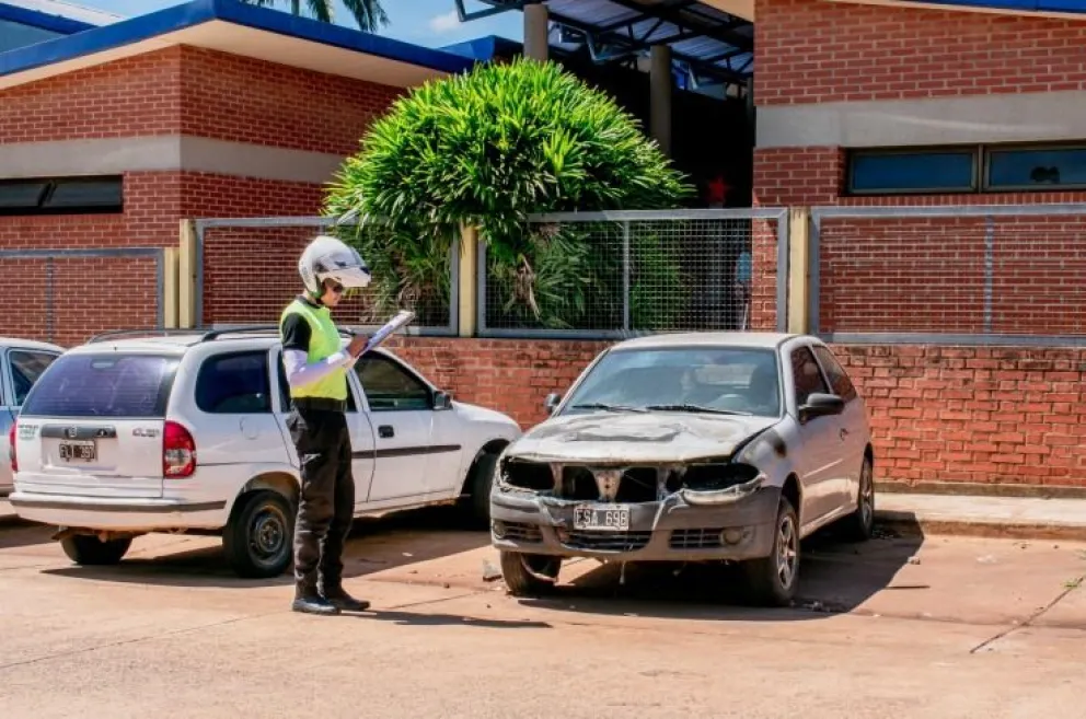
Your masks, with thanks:
[{"label": "red brick building with pale bands and blue roof edge", "polygon": [[[754,204],[878,210],[816,223],[789,301],[862,383],[880,479],[1086,486],[1086,212],[909,209],[1084,201],[1086,18],[1066,2],[706,2],[754,23]],[[155,259],[125,251],[175,246],[186,218],[315,214],[373,116],[469,66],[212,0],[0,54],[0,269],[26,278],[0,332],[152,325]],[[765,298],[776,256],[755,235]],[[229,272],[212,285],[207,301],[227,297]],[[400,341],[524,424],[604,346]]]}]

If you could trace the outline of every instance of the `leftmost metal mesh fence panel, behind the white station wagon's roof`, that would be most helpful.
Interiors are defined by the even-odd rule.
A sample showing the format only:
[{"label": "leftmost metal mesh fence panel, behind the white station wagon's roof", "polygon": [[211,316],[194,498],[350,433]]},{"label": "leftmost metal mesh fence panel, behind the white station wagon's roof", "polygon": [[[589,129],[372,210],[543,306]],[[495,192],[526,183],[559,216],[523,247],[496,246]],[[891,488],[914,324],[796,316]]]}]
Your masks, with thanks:
[{"label": "leftmost metal mesh fence panel, behind the white station wagon's roof", "polygon": [[9,278],[11,308],[0,334],[71,346],[97,332],[164,323],[162,247],[0,250],[0,276]]}]

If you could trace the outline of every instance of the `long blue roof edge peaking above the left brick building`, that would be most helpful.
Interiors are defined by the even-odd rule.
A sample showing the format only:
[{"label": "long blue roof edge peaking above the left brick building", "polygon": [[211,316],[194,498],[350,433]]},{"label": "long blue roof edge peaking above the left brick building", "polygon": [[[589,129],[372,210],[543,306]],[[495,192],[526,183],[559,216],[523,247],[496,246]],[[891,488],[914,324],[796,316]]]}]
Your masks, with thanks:
[{"label": "long blue roof edge peaking above the left brick building", "polygon": [[132,45],[213,20],[442,72],[463,72],[474,66],[472,60],[451,53],[322,23],[309,18],[296,18],[286,12],[247,5],[238,0],[193,0],[109,25],[92,26],[90,30],[67,37],[0,53],[0,76]]}]

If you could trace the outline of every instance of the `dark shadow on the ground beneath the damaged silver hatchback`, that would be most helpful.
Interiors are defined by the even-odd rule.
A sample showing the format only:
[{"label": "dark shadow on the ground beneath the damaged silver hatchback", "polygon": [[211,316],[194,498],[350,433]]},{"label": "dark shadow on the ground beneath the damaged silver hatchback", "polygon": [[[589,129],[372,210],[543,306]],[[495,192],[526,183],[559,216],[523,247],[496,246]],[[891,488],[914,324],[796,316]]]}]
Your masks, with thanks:
[{"label": "dark shadow on the ground beneath the damaged silver hatchback", "polygon": [[[525,606],[585,614],[650,616],[674,619],[812,619],[855,610],[879,592],[926,587],[894,578],[924,543],[915,523],[878,526],[869,542],[844,542],[833,529],[808,537],[792,608],[759,608],[746,594],[738,566],[602,565],[559,584],[545,596],[525,598]],[[593,561],[593,560],[589,560]]]}]

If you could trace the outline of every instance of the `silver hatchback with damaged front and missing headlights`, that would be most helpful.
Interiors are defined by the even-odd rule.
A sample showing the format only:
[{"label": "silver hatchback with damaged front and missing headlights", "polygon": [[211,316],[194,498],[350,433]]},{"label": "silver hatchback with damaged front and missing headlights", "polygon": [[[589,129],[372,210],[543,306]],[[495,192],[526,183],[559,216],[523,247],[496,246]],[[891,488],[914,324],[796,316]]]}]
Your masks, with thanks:
[{"label": "silver hatchback with damaged front and missing headlights", "polygon": [[499,457],[492,543],[515,594],[563,558],[738,561],[761,604],[787,604],[800,541],[875,515],[863,399],[806,335],[660,335],[602,352],[551,418]]}]

